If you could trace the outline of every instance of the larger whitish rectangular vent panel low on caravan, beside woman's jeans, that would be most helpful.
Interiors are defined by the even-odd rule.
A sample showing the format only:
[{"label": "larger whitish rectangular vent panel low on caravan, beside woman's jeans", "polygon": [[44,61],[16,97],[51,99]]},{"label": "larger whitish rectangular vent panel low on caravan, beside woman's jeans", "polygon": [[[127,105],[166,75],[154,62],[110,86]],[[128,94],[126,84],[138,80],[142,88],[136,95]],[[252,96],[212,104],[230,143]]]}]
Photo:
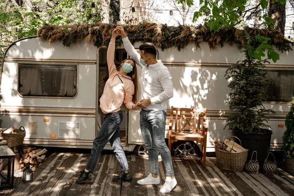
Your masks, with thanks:
[{"label": "larger whitish rectangular vent panel low on caravan, beside woman's jeans", "polygon": [[59,138],[80,138],[80,123],[58,122]]}]

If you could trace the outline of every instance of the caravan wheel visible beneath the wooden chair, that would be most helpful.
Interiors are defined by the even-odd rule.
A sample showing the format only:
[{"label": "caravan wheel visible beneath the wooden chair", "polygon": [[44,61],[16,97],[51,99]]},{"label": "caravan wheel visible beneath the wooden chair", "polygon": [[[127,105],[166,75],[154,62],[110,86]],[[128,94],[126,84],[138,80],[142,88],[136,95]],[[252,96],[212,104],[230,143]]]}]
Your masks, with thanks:
[{"label": "caravan wheel visible beneath the wooden chair", "polygon": [[172,144],[172,155],[174,156],[200,156],[199,147],[191,141],[178,141]]}]

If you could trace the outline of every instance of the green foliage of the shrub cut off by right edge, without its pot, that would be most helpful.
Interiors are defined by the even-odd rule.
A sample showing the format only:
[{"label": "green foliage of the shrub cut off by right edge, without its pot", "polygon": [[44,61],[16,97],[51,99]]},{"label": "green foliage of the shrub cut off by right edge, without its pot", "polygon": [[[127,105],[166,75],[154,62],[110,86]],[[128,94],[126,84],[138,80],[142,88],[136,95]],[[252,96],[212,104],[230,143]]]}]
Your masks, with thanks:
[{"label": "green foliage of the shrub cut off by right edge, without its pot", "polygon": [[292,105],[290,112],[285,120],[286,131],[283,135],[283,147],[285,156],[294,157],[294,96],[292,96]]}]

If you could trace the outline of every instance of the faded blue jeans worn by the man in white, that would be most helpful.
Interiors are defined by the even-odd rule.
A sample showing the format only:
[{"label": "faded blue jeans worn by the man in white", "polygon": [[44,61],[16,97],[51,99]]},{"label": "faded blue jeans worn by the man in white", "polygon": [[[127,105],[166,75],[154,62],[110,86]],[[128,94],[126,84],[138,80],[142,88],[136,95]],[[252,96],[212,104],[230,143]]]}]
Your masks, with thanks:
[{"label": "faded blue jeans worn by the man in white", "polygon": [[165,122],[167,113],[164,110],[144,110],[140,112],[140,127],[149,154],[150,172],[159,174],[158,151],[160,152],[166,175],[174,175],[172,168],[171,151],[168,148],[165,136]]}]

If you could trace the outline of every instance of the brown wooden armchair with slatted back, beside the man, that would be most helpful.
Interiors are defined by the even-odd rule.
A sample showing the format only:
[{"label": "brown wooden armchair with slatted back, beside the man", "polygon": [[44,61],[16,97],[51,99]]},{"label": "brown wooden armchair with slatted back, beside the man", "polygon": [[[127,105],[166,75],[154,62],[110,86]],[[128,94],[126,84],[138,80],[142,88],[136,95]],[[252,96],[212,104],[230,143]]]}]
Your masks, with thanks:
[{"label": "brown wooden armchair with slatted back, beside the man", "polygon": [[202,145],[201,159],[205,167],[206,162],[206,141],[207,124],[206,108],[197,111],[191,108],[171,108],[171,120],[169,123],[169,148],[172,150],[172,143],[176,141],[195,141]]}]

